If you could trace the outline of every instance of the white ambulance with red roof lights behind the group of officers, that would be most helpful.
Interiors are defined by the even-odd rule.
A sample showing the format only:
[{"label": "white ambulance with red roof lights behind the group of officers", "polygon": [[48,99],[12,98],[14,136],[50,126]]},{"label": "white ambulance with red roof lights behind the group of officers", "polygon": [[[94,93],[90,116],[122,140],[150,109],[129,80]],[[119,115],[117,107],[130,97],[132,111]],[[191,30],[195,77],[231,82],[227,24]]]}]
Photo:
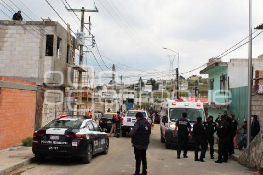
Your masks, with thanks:
[{"label": "white ambulance with red roof lights behind the group of officers", "polygon": [[[186,119],[190,122],[191,126],[196,123],[197,117],[202,117],[206,121],[203,103],[195,99],[175,99],[166,100],[162,103],[162,110],[160,113],[160,132],[161,142],[165,143],[167,149],[170,146],[177,145],[177,134],[173,138],[176,121],[181,118],[182,113],[187,113]],[[177,128],[178,130],[178,128]],[[194,144],[194,140],[189,140],[189,144]]]}]

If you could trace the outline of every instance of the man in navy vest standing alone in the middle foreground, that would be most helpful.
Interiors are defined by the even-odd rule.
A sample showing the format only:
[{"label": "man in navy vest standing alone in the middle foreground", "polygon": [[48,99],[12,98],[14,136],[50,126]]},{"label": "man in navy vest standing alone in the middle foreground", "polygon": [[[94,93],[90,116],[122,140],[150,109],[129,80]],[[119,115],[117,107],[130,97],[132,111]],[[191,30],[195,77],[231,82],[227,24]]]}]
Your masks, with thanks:
[{"label": "man in navy vest standing alone in the middle foreground", "polygon": [[130,131],[131,143],[134,147],[134,155],[136,160],[136,170],[134,175],[140,174],[140,164],[142,161],[142,174],[147,175],[146,151],[150,143],[151,124],[143,117],[141,112],[135,115],[137,122],[134,123],[133,129]]}]

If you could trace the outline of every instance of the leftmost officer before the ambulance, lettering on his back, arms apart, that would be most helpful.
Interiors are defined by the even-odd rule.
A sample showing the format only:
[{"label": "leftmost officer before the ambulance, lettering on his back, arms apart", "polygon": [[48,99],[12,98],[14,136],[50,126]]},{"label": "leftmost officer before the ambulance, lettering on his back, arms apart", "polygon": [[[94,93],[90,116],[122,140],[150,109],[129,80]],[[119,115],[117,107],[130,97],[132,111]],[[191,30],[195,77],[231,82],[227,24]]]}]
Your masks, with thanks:
[{"label": "leftmost officer before the ambulance, lettering on his back, arms apart", "polygon": [[[178,119],[175,123],[175,130],[173,137],[176,136],[176,130],[178,127],[178,147],[177,147],[177,159],[180,159],[182,144],[184,144],[183,148],[183,158],[188,158],[187,151],[188,151],[188,139],[189,133],[190,136],[192,135],[191,125],[190,122],[186,119],[187,113],[183,113],[182,117]],[[188,129],[188,130],[187,130]]]}]

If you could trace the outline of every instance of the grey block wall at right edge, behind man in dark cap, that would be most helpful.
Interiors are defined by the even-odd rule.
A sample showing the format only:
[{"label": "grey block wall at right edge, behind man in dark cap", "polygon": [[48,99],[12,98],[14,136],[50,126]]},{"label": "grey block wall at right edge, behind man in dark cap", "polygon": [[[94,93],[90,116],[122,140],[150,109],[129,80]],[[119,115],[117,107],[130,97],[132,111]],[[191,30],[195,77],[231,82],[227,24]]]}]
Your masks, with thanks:
[{"label": "grey block wall at right edge, behind man in dark cap", "polygon": [[260,129],[263,130],[263,96],[252,96],[252,115],[258,116]]}]

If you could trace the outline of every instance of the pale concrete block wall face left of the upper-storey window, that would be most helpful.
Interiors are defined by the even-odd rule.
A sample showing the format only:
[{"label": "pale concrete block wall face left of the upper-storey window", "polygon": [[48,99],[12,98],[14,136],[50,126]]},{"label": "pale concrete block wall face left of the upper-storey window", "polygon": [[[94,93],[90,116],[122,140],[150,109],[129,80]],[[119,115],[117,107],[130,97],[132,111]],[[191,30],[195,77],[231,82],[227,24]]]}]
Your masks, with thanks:
[{"label": "pale concrete block wall face left of the upper-storey window", "polygon": [[38,77],[41,37],[29,26],[0,25],[0,75]]}]

